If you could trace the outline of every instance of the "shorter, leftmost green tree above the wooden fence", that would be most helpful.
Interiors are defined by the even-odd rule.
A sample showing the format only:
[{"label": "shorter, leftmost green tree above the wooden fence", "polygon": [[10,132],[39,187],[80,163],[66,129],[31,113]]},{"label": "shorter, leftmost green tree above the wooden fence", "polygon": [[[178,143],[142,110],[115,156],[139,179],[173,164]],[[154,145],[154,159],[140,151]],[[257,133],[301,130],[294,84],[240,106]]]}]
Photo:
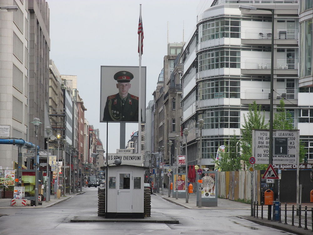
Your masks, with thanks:
[{"label": "shorter, leftmost green tree above the wooden fence", "polygon": [[220,153],[218,160],[215,160],[217,169],[221,171],[239,171],[241,170],[240,156],[238,155],[238,139],[235,132],[233,137],[229,140],[229,144],[225,145],[225,151]]}]

